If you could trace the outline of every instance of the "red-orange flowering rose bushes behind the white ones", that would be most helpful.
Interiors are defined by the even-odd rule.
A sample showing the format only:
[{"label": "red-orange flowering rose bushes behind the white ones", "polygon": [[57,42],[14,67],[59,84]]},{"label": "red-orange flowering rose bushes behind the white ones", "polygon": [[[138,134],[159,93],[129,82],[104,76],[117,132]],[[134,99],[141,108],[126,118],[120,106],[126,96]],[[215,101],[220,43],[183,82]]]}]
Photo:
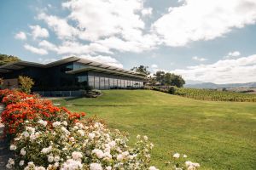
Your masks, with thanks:
[{"label": "red-orange flowering rose bushes behind the white ones", "polygon": [[24,122],[37,122],[44,119],[49,122],[67,121],[77,122],[85,113],[73,113],[64,107],[56,107],[48,99],[39,99],[36,95],[24,94],[19,91],[0,90],[2,103],[6,105],[2,113],[4,131],[8,134],[19,133],[24,130]]}]

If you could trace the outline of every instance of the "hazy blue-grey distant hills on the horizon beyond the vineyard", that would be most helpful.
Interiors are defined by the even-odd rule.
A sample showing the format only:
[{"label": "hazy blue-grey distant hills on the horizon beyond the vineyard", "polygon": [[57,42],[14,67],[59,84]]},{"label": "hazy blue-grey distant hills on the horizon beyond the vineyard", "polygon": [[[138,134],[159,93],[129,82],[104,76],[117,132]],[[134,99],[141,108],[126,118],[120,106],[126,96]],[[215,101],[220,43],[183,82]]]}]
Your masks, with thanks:
[{"label": "hazy blue-grey distant hills on the horizon beyond the vineyard", "polygon": [[256,82],[247,83],[230,83],[230,84],[215,84],[212,82],[202,82],[196,84],[185,84],[185,88],[256,88]]}]

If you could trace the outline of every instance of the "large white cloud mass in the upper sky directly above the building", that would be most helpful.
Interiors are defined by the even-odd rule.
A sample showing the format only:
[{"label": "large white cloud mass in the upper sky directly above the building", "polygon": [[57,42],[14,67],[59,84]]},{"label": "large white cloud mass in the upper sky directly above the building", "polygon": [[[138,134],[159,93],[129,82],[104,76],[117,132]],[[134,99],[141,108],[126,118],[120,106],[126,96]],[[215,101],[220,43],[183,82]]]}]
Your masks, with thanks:
[{"label": "large white cloud mass in the upper sky directly above the building", "polygon": [[159,43],[159,38],[145,33],[142,17],[151,14],[152,8],[144,8],[143,3],[143,0],[71,0],[62,3],[70,11],[66,18],[38,14],[38,20],[44,20],[62,42],[39,45],[57,54],[151,50]]}]

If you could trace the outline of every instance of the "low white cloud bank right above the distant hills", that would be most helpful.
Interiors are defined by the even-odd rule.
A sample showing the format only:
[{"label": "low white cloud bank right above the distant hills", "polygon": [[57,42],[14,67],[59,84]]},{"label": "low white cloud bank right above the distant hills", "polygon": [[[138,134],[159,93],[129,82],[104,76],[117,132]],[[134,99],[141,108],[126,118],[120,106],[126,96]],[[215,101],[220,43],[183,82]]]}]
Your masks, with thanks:
[{"label": "low white cloud bank right above the distant hills", "polygon": [[256,80],[256,54],[238,59],[223,59],[211,65],[189,66],[174,70],[187,80],[215,83],[254,82]]}]

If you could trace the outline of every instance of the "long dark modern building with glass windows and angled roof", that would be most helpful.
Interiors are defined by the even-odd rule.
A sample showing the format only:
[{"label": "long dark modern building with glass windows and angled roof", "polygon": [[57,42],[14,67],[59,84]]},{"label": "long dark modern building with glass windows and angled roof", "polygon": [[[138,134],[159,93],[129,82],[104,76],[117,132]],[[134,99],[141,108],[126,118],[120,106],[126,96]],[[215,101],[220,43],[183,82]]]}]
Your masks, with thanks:
[{"label": "long dark modern building with glass windows and angled roof", "polygon": [[16,61],[0,66],[3,88],[16,88],[18,77],[32,77],[32,91],[79,90],[88,86],[95,89],[141,88],[145,75],[103,63],[70,57],[46,65]]}]

